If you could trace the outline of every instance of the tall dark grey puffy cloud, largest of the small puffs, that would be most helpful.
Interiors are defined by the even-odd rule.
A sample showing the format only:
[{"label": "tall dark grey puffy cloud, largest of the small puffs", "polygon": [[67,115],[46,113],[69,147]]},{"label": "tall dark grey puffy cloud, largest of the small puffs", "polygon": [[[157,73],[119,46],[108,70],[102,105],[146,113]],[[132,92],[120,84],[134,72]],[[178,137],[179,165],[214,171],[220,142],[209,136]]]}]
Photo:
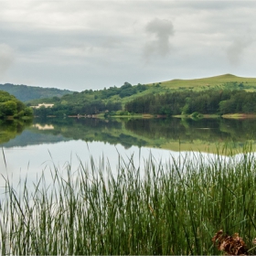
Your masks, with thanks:
[{"label": "tall dark grey puffy cloud, largest of the small puffs", "polygon": [[171,49],[169,38],[174,36],[172,22],[155,18],[146,25],[145,31],[147,34],[155,36],[155,39],[147,42],[144,47],[145,59],[149,59],[153,54],[165,57]]}]

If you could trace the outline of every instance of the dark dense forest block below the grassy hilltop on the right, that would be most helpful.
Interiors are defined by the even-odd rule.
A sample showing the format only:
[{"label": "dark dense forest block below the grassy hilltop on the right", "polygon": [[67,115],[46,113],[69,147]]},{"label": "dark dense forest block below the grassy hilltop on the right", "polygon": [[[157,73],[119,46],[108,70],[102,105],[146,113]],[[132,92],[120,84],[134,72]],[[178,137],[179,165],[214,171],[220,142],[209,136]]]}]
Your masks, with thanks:
[{"label": "dark dense forest block below the grassy hilltop on the right", "polygon": [[176,91],[145,95],[125,104],[125,111],[164,115],[255,113],[256,92],[243,90]]}]

